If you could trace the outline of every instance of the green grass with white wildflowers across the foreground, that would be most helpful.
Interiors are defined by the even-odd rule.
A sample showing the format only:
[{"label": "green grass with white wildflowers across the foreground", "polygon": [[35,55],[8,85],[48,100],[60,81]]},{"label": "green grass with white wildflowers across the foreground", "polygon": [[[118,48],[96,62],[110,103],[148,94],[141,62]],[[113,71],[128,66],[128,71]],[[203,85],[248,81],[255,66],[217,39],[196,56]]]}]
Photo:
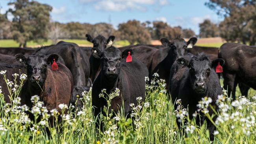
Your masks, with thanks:
[{"label": "green grass with white wildflowers across the foreground", "polygon": [[[5,77],[5,72],[1,71],[0,76]],[[20,76],[16,76],[16,81],[21,81]],[[155,75],[157,76],[157,75]],[[24,78],[24,76],[22,76]],[[8,81],[6,80],[8,83]],[[20,99],[17,98],[21,85],[12,89],[13,85],[8,83],[9,91],[14,97],[11,104],[4,102],[4,95],[0,90],[0,143],[5,144],[209,144],[209,131],[205,124],[201,127],[195,125],[193,120],[187,119],[187,110],[174,110],[173,103],[165,90],[165,83],[157,80],[157,77],[150,83],[156,85],[146,85],[146,100],[141,102],[137,98],[138,106],[131,104],[133,109],[131,118],[126,118],[120,112],[113,119],[112,113],[107,113],[109,106],[104,108],[104,115],[94,117],[91,107],[91,90],[83,92],[82,111],[77,114],[72,113],[71,109],[75,106],[59,105],[61,111],[49,110],[48,113],[56,118],[53,122],[54,127],[50,127],[47,119],[49,114],[39,102],[39,97],[32,98],[33,108],[28,110],[26,106],[20,106]],[[102,90],[105,93],[105,90]],[[237,91],[239,94],[239,91]],[[119,96],[116,90],[106,98]],[[203,107],[210,102],[209,99],[202,100]],[[180,102],[177,102],[180,103]],[[224,91],[223,96],[218,96],[217,105],[219,111],[215,112],[218,116],[213,122],[217,126],[213,144],[246,143],[252,144],[256,141],[256,96],[255,91],[250,92],[250,96],[237,97],[231,102]],[[209,105],[211,107],[211,105]],[[35,116],[35,120],[30,120],[25,113],[30,111]],[[198,114],[198,113],[195,113]],[[41,116],[39,118],[39,116]],[[209,114],[206,116],[210,119]],[[182,129],[178,129],[176,118],[181,119]],[[102,131],[96,129],[96,122],[104,124]],[[187,120],[187,123],[185,123]],[[48,132],[46,132],[48,131]]]}]

